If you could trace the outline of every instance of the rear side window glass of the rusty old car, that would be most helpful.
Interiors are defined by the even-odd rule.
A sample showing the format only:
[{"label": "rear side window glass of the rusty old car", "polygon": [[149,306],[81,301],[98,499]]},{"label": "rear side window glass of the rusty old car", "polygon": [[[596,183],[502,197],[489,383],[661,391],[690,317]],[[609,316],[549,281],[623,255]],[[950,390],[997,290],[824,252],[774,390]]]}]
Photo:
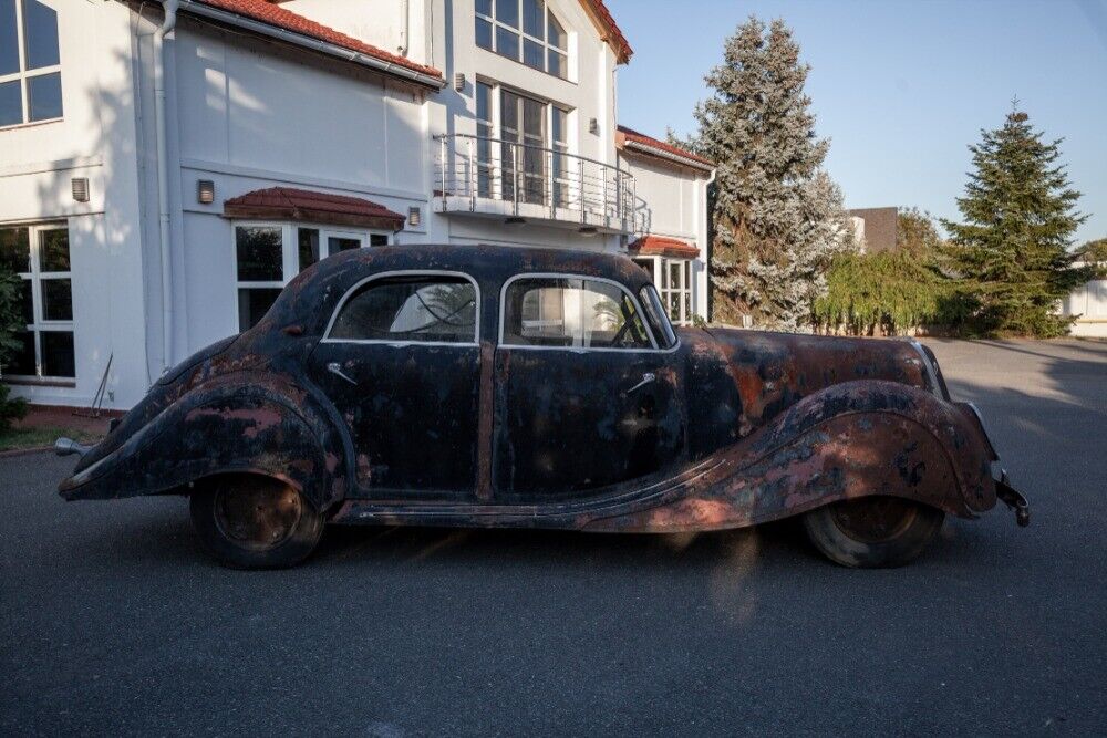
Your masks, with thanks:
[{"label": "rear side window glass of the rusty old car", "polygon": [[397,274],[355,287],[329,341],[476,343],[477,290],[462,276]]}]

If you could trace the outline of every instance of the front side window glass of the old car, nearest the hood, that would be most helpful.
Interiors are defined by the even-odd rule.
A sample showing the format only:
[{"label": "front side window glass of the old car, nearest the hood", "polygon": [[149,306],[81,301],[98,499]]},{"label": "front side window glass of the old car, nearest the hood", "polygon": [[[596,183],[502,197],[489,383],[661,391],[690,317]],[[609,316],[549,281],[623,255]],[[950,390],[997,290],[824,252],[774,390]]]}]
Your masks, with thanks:
[{"label": "front side window glass of the old car, nearest the hood", "polygon": [[509,346],[652,349],[630,293],[613,282],[526,277],[504,291],[500,343]]}]

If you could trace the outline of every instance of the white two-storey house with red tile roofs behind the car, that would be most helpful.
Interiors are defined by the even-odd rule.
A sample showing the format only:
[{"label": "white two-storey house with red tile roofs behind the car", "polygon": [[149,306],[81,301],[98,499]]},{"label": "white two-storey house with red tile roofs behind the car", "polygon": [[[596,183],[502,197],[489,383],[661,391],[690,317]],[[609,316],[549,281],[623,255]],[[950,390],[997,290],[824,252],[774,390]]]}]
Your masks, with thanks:
[{"label": "white two-storey house with red tile roofs behind the car", "polygon": [[130,407],[383,243],[629,252],[706,316],[713,168],[618,126],[630,56],[601,0],[0,0],[4,381]]}]

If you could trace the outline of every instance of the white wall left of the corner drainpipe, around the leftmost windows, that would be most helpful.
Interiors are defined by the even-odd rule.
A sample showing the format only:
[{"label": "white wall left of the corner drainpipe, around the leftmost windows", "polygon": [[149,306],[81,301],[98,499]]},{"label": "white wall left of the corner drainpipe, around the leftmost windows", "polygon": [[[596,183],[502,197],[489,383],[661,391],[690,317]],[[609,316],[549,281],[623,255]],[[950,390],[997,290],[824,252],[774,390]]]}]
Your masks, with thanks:
[{"label": "white wall left of the corner drainpipe, around the leftmost windows", "polygon": [[[87,405],[108,356],[107,404],[147,386],[131,13],[115,2],[44,0],[58,10],[63,118],[0,131],[0,224],[69,225],[76,377],[19,385],[33,402]],[[90,200],[70,180],[87,177]]]}]

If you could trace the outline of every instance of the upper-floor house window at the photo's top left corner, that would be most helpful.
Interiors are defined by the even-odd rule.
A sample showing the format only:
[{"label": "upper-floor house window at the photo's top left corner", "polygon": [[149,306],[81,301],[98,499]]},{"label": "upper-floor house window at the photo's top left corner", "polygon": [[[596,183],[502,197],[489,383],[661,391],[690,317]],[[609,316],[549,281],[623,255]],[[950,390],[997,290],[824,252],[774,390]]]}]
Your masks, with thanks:
[{"label": "upper-floor house window at the photo's top left corner", "polygon": [[62,117],[58,11],[0,0],[0,127]]}]

